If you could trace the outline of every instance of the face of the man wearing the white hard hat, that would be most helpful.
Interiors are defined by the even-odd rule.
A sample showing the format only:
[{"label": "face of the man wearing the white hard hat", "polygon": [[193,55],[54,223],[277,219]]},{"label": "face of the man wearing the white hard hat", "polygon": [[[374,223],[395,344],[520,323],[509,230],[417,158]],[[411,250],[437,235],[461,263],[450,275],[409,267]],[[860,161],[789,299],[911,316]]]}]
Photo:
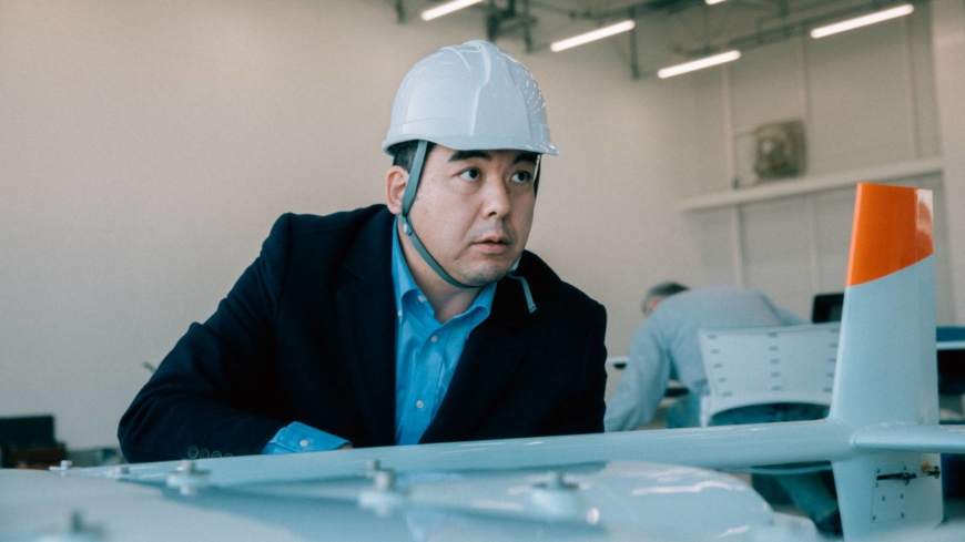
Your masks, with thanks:
[{"label": "face of the man wearing the white hard hat", "polygon": [[[454,279],[470,286],[498,280],[522,254],[532,226],[536,161],[535,153],[520,151],[436,145],[429,152],[409,219]],[[399,212],[392,185],[389,207]]]}]

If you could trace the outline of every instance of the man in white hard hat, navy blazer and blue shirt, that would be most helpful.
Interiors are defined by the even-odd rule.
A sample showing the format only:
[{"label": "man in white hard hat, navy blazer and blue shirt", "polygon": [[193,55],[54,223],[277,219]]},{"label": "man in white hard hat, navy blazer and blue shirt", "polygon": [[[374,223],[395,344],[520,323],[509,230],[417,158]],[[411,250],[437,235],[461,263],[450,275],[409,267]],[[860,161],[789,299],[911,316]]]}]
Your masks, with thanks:
[{"label": "man in white hard hat, navy blazer and blue shirt", "polygon": [[284,215],[134,399],[131,461],[602,431],[603,307],[524,247],[549,140],[490,43],[403,81],[386,203]]}]

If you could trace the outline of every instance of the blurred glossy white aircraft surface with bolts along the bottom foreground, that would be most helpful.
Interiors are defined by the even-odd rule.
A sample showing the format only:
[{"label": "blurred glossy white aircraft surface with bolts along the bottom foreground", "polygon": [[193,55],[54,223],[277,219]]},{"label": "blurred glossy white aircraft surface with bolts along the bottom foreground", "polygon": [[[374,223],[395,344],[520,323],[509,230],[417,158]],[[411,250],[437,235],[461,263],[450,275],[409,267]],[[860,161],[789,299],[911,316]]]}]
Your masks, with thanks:
[{"label": "blurred glossy white aircraft surface with bolts along the bottom foreground", "polygon": [[62,535],[60,519],[77,511],[84,530],[73,534],[89,540],[820,540],[810,521],[775,514],[738,479],[652,463],[421,471],[392,484],[363,472],[202,488],[193,497],[119,480],[2,471],[0,488],[4,542]]}]

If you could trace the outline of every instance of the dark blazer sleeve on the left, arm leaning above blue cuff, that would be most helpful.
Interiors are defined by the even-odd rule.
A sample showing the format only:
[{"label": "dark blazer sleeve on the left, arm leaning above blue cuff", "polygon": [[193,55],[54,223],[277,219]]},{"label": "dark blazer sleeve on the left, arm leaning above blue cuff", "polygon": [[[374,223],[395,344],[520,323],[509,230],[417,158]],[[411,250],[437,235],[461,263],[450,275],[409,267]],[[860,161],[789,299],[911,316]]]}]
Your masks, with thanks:
[{"label": "dark blazer sleeve on the left, arm leaning above blue cuff", "polygon": [[[192,324],[134,398],[118,428],[131,462],[258,453],[286,422],[276,401],[275,323],[291,245],[291,215],[204,324]],[[193,458],[192,458],[193,459]]]}]

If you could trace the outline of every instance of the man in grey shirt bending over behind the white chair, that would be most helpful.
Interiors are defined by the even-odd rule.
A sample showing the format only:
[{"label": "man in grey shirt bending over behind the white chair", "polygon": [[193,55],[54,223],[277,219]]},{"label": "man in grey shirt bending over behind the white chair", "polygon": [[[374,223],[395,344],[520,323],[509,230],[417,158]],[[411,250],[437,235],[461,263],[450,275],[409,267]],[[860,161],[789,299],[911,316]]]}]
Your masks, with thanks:
[{"label": "man in grey shirt bending over behind the white chair", "polygon": [[[677,283],[650,288],[643,299],[643,315],[647,320],[633,335],[630,360],[607,406],[607,431],[630,431],[648,423],[671,378],[680,381],[690,393],[677,400],[667,412],[667,427],[700,425],[700,397],[707,390],[707,376],[699,329],[803,324],[758,290],[734,286],[689,290]],[[762,405],[721,412],[711,425],[800,421],[825,415],[824,407],[816,405]],[[781,475],[775,477],[775,481],[820,530],[840,534],[837,503],[820,475]]]}]

